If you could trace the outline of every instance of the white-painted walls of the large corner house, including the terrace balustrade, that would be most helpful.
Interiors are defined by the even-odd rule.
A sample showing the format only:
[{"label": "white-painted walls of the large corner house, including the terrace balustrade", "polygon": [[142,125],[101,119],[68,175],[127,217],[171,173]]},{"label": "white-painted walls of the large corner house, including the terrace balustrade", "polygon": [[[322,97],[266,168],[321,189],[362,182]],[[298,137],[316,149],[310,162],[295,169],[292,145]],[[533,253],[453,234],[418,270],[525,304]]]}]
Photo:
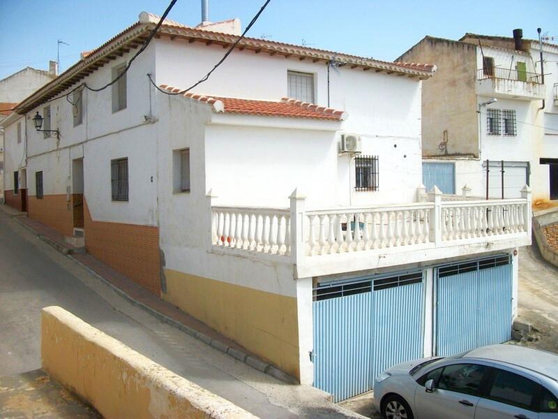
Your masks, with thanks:
[{"label": "white-painted walls of the large corner house, including the terrace balustrade", "polygon": [[[91,87],[110,82],[112,68],[136,51],[130,49],[85,75],[82,82]],[[331,121],[216,112],[201,101],[162,94],[146,77],[150,73],[158,85],[185,88],[204,75],[224,51],[220,45],[154,38],[127,73],[126,109],[112,112],[111,89],[84,91],[83,122],[74,126],[72,105],[61,96],[49,103],[51,129],[59,130],[59,138],[45,138],[34,131],[31,121],[35,112],[43,113],[43,103],[20,117],[27,119],[27,135],[22,145],[10,147],[10,170],[22,167],[18,162],[27,159],[29,196],[36,193],[37,171],[43,171],[45,195],[77,193],[80,191],[73,190],[73,159],[83,159],[83,193],[91,217],[158,227],[163,267],[296,297],[302,383],[312,382],[308,359],[312,351],[312,278],[427,266],[432,277],[431,266],[439,261],[474,258],[478,253],[510,253],[530,242],[530,223],[525,221],[530,216],[528,191],[513,202],[488,204],[442,203],[438,194],[426,203],[417,199],[422,157],[421,81],[416,78],[350,66],[338,73],[332,70],[331,108],[347,112],[349,119]],[[295,70],[314,75],[317,104],[325,106],[327,67],[323,61],[311,61],[235,50],[193,92],[279,101],[287,96],[287,71]],[[6,125],[10,145],[16,122],[16,117],[10,117]],[[378,156],[378,191],[354,190],[354,160],[338,154],[342,133],[361,135],[363,154]],[[486,152],[497,146],[486,145]],[[174,153],[185,148],[190,149],[190,191],[176,192]],[[115,202],[111,199],[110,162],[122,157],[128,157],[130,196],[128,202]],[[289,199],[293,191],[296,194]],[[485,228],[476,226],[471,215],[483,214],[483,205],[491,205],[495,214],[504,214],[504,206],[513,207],[516,218],[502,218],[500,233],[483,235]],[[247,208],[247,214],[267,208],[278,218],[288,216],[290,240],[282,236],[278,242],[286,244],[289,254],[220,246],[213,224],[217,208],[228,208],[223,211],[228,214],[239,212],[235,209],[239,206]],[[482,207],[482,211],[472,207]],[[365,236],[347,238],[349,251],[332,251],[324,242],[320,220],[341,213],[347,224],[350,216],[372,217],[365,218],[364,225],[385,226],[379,234],[386,237],[377,238],[381,242]],[[455,236],[444,233],[442,220],[465,217],[458,215],[465,213],[470,215],[467,223],[453,226]],[[375,221],[378,218],[373,217],[379,214],[387,217],[386,223],[384,218]],[[505,232],[504,223],[513,228]],[[314,233],[310,233],[312,228]],[[239,244],[243,232],[235,234],[227,236]],[[335,234],[340,243],[343,233]],[[432,324],[426,327],[425,353],[429,353]]]}]

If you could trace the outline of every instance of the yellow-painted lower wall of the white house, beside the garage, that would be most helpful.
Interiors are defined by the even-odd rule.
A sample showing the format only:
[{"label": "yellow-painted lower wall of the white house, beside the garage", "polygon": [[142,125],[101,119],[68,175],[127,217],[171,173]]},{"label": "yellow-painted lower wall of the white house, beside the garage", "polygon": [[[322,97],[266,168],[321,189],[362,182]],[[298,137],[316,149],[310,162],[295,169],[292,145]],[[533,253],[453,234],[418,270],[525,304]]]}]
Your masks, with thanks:
[{"label": "yellow-painted lower wall of the white house, beside the garage", "polygon": [[296,298],[165,270],[167,300],[300,378]]}]

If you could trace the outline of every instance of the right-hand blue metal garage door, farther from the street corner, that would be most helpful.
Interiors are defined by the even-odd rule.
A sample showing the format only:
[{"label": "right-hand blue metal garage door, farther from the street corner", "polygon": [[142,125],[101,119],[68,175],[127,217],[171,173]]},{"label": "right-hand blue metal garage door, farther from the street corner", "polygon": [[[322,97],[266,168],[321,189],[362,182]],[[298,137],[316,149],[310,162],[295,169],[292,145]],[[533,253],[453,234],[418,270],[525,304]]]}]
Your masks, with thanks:
[{"label": "right-hand blue metal garage door, farther from the street corner", "polygon": [[508,341],[512,281],[507,254],[438,267],[436,354]]}]

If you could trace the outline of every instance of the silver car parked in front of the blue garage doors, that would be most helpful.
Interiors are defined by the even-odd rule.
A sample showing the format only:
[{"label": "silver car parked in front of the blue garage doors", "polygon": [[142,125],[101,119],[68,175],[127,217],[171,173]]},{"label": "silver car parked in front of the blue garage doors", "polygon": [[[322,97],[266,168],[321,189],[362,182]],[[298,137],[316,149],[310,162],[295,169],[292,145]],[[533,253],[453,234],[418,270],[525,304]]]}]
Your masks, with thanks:
[{"label": "silver car parked in front of the blue garage doors", "polygon": [[376,377],[387,419],[558,419],[558,355],[493,345],[423,358]]}]

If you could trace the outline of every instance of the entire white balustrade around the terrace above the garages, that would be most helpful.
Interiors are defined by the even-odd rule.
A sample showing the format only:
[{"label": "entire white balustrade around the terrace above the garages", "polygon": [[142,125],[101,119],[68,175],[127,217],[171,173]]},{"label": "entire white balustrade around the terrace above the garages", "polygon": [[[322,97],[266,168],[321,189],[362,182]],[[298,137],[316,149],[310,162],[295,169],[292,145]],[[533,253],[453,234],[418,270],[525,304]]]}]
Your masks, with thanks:
[{"label": "entire white balustrade around the terrace above the garages", "polygon": [[[293,208],[296,210],[211,207],[211,244],[285,256],[296,263],[303,257],[381,249],[389,253],[389,249],[401,247],[446,247],[451,241],[479,237],[490,240],[489,237],[530,232],[530,205],[526,198],[301,210],[297,217],[292,216],[296,213]],[[292,224],[297,222],[301,224]],[[295,232],[299,242],[294,242]],[[291,251],[294,244],[299,249],[297,254]]]}]

